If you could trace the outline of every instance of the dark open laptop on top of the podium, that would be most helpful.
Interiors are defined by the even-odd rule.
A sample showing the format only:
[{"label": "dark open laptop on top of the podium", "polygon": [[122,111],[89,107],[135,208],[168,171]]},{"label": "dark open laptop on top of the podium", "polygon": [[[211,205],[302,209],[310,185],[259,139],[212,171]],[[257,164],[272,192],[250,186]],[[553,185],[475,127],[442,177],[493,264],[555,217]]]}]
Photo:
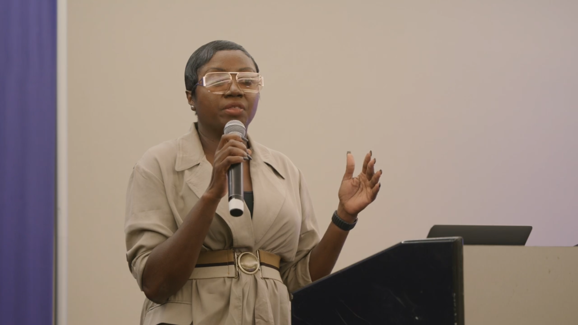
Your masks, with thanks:
[{"label": "dark open laptop on top of the podium", "polygon": [[464,245],[526,245],[532,226],[460,226],[436,224],[428,238],[462,237]]}]

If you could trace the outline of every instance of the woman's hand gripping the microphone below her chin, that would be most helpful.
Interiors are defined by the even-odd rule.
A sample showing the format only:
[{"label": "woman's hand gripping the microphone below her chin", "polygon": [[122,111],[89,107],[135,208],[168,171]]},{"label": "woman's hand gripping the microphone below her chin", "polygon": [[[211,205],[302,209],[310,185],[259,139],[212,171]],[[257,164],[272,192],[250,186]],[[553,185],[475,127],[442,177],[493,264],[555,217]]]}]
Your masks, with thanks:
[{"label": "woman's hand gripping the microphone below her chin", "polygon": [[249,149],[238,134],[225,134],[217,146],[213,159],[213,173],[205,195],[221,200],[227,195],[227,171],[232,164],[249,160]]}]

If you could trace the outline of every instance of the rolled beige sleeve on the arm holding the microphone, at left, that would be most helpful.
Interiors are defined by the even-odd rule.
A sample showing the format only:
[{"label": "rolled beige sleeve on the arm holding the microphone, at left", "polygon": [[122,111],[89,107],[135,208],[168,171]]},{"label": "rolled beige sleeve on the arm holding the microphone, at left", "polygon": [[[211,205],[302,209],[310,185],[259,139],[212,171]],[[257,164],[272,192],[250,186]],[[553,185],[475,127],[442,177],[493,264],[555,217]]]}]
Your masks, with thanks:
[{"label": "rolled beige sleeve on the arm holding the microphone, at left", "polygon": [[128,182],[124,223],[127,261],[140,290],[150,252],[177,230],[161,177],[136,164]]}]

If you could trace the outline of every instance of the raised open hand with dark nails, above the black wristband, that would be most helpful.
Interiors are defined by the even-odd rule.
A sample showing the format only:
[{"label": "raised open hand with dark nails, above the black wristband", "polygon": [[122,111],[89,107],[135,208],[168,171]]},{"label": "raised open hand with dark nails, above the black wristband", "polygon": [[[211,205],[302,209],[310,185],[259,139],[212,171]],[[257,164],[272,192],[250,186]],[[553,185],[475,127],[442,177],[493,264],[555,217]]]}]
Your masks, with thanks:
[{"label": "raised open hand with dark nails, above the black wristband", "polygon": [[365,155],[360,175],[353,177],[355,161],[353,155],[347,153],[347,167],[339,187],[337,210],[338,216],[347,222],[353,223],[357,214],[373,202],[379,193],[379,178],[382,172],[374,172],[376,160],[372,159],[371,155],[371,152]]}]

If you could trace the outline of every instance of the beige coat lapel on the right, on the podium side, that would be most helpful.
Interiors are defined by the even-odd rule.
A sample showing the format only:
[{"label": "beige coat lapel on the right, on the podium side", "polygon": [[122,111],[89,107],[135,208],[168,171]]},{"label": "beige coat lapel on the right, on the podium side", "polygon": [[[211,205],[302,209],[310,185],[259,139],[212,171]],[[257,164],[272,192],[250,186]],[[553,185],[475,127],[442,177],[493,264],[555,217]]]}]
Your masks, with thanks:
[{"label": "beige coat lapel on the right, on the podium side", "polygon": [[[249,138],[249,137],[248,137]],[[280,163],[271,151],[249,138],[253,160],[249,164],[253,183],[253,230],[255,243],[261,241],[285,202],[286,186]]]}]

